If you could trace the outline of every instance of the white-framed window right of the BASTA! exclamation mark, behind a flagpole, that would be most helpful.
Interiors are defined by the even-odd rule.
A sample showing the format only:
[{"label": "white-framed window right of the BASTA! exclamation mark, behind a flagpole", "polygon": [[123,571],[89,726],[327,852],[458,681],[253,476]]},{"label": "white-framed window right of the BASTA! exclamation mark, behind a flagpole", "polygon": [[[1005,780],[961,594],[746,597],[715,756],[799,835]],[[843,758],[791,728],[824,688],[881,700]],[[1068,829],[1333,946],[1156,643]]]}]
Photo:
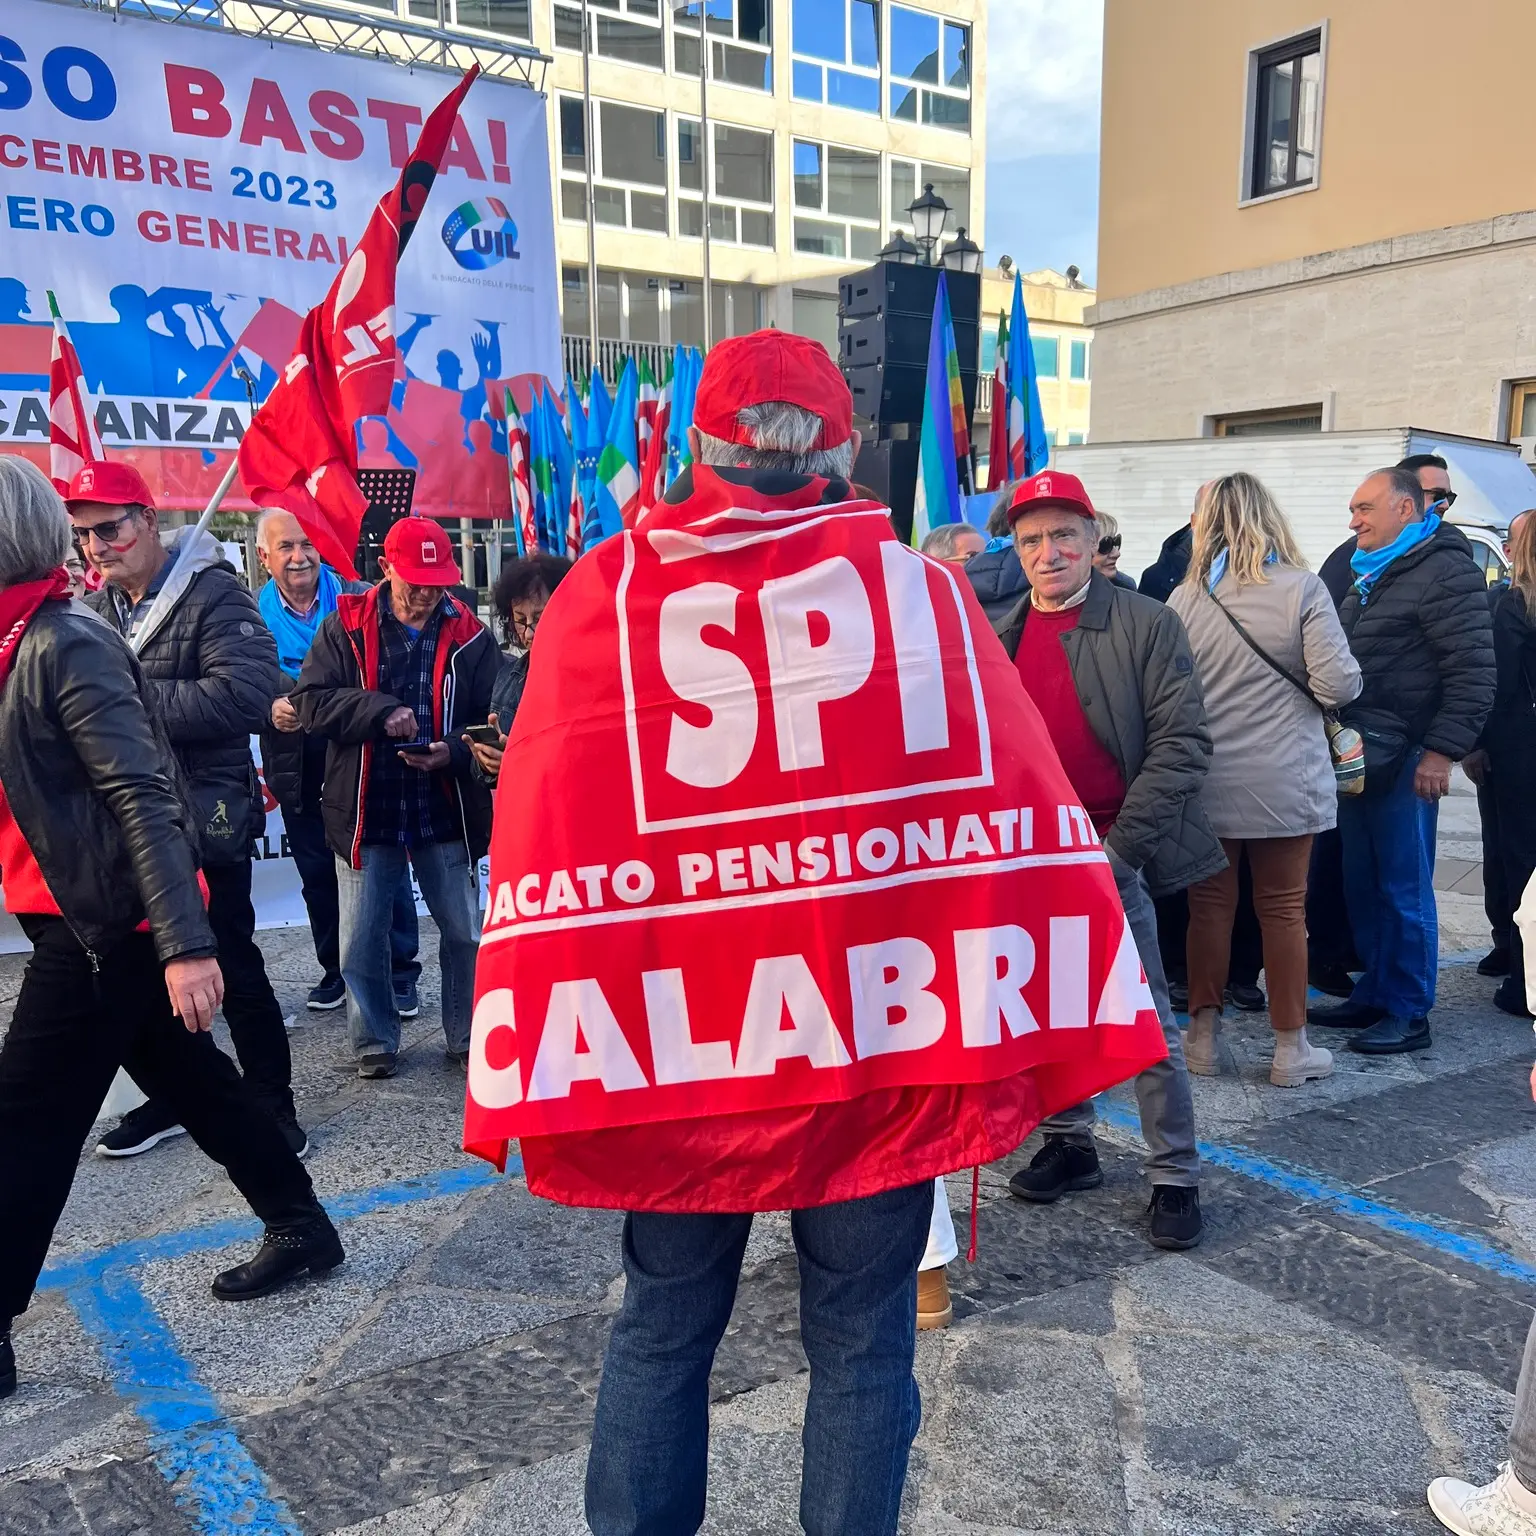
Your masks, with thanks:
[{"label": "white-framed window right of the BASTA! exclamation mark, behind a flagpole", "polygon": [[[594,101],[593,218],[667,233],[667,114]],[[587,121],[579,97],[561,97],[561,217],[587,218]]]}]

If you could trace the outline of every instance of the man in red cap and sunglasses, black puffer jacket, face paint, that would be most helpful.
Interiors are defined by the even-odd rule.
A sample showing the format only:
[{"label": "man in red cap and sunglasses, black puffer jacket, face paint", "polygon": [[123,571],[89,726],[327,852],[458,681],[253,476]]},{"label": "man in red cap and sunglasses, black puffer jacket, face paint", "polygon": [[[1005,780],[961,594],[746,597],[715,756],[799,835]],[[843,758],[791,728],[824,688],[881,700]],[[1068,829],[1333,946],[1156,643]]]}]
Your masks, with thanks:
[{"label": "man in red cap and sunglasses, black puffer jacket, face paint", "polygon": [[[190,530],[169,550],[160,542],[149,487],[137,470],[88,464],[66,501],[75,541],[106,581],[91,607],[138,656],[155,716],[181,765],[235,1054],[257,1098],[303,1155],[307,1141],[293,1114],[287,1031],[253,938],[250,905],[252,843],[266,826],[250,737],[266,723],[280,687],[276,645],[212,535],[198,538],[170,585],[175,554]],[[170,1109],[151,1098],[124,1115],[97,1152],[134,1157],[180,1132]]]}]

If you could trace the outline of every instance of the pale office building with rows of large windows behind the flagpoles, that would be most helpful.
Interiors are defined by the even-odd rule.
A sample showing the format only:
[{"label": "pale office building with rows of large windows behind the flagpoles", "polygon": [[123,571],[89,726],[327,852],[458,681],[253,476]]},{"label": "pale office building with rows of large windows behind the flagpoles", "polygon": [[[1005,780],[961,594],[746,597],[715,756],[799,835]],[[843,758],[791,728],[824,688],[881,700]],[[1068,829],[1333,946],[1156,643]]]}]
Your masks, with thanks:
[{"label": "pale office building with rows of large windows behind the flagpoles", "polygon": [[[700,9],[711,69],[711,336],[774,324],[836,349],[837,276],[874,260],[931,183],[949,237],[983,241],[983,0],[588,0],[591,134],[581,6],[401,0],[553,58],[550,163],[567,352],[590,329],[593,183],[604,341],[703,341]],[[438,15],[438,6],[453,9]],[[456,6],[456,8],[455,8]],[[590,138],[590,143],[588,143]],[[590,166],[588,166],[590,160]]]}]

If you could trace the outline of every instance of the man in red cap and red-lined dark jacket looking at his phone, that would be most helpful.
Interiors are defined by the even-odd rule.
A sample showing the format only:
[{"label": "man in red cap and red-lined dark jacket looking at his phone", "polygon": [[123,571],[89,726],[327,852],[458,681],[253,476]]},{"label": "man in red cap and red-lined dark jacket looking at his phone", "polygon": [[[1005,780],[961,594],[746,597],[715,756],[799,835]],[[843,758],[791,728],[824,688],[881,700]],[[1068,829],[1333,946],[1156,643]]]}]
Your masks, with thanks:
[{"label": "man in red cap and red-lined dark jacket looking at his phone", "polygon": [[501,667],[490,631],[449,594],[458,568],[438,524],[396,522],[379,568],[378,587],[336,601],[289,696],[304,730],[327,739],[321,816],[336,856],[347,1023],[366,1078],[393,1077],[399,1057],[389,926],[407,862],[438,925],[449,1055],[468,1060],[490,794],[461,731],[485,720]]}]

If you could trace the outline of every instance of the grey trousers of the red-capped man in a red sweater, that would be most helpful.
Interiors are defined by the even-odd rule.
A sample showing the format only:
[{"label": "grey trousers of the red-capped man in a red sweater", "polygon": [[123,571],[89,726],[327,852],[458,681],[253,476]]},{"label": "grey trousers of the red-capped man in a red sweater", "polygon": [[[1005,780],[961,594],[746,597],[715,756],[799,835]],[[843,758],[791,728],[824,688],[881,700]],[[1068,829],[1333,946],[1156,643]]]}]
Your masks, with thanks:
[{"label": "grey trousers of the red-capped man in a red sweater", "polygon": [[[1167,1000],[1167,978],[1163,975],[1163,957],[1157,945],[1157,914],[1141,871],[1121,863],[1114,854],[1109,856],[1109,866],[1115,871],[1120,902],[1126,909],[1137,952],[1141,955],[1141,968],[1147,974],[1147,986],[1152,988],[1157,1015],[1163,1020],[1163,1038],[1167,1041],[1167,1060],[1137,1074],[1137,1107],[1141,1111],[1141,1137],[1147,1144],[1147,1180],[1152,1184],[1193,1189],[1200,1183],[1195,1100],[1184,1068],[1184,1041]],[[1046,1135],[1063,1137],[1077,1146],[1091,1147],[1094,1118],[1094,1101],[1089,1100],[1052,1115],[1040,1129]],[[1536,1410],[1536,1384],[1531,1385],[1531,1407]],[[1536,1413],[1533,1413],[1531,1442],[1536,1450]]]}]

